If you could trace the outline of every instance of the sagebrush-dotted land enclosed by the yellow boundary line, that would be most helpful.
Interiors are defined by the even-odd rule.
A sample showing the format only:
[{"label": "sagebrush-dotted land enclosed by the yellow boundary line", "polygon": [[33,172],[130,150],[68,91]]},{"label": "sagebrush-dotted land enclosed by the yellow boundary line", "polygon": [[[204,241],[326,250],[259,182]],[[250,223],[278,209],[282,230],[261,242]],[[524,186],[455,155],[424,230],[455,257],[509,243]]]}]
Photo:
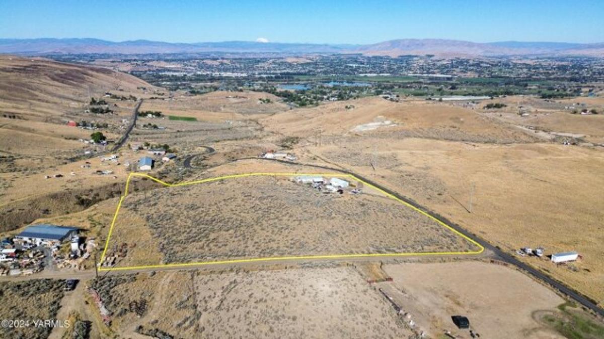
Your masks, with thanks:
[{"label": "sagebrush-dotted land enclosed by the yellow boundary line", "polygon": [[[120,214],[127,221],[118,217],[111,243],[137,242],[127,233],[150,229],[162,263],[476,250],[391,198],[324,194],[288,177],[246,177],[129,194]],[[137,244],[129,255],[147,248]]]}]

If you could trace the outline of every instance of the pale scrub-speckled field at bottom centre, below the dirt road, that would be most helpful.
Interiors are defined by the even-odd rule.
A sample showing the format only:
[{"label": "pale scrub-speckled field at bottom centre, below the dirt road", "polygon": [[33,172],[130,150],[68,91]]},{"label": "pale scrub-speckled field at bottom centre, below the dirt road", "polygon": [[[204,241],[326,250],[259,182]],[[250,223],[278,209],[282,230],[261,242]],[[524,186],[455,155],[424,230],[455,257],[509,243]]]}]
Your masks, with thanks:
[{"label": "pale scrub-speckled field at bottom centre, below the dirt road", "polygon": [[[122,337],[137,329],[187,338],[411,335],[385,299],[348,267],[140,273],[108,276],[93,286],[114,312],[112,329]],[[138,318],[129,305],[141,300],[147,308]]]}]

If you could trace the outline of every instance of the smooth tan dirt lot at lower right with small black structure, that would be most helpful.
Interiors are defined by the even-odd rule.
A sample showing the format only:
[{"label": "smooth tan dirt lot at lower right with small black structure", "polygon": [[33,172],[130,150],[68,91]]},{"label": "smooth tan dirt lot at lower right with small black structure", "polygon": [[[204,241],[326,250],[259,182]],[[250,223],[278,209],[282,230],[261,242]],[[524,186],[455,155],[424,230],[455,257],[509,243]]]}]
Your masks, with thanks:
[{"label": "smooth tan dirt lot at lower right with small black structure", "polygon": [[[464,315],[484,338],[564,338],[533,318],[564,303],[548,288],[519,271],[486,262],[439,262],[384,265],[393,277],[379,283],[432,338],[445,330],[470,338],[451,320]],[[445,336],[442,336],[446,338]]]}]

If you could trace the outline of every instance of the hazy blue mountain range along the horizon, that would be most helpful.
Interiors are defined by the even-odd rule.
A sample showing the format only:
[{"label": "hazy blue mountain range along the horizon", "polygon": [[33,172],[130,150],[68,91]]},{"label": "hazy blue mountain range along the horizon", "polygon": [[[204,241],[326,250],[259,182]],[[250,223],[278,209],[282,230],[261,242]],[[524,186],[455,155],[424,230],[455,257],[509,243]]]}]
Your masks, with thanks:
[{"label": "hazy blue mountain range along the horizon", "polygon": [[397,39],[372,45],[330,45],[275,42],[200,42],[169,43],[149,40],[111,42],[101,39],[0,39],[4,54],[80,54],[80,53],[202,53],[229,52],[248,54],[333,54],[425,55],[439,57],[488,57],[496,55],[584,55],[604,56],[604,43],[566,42],[492,42],[477,43],[445,39]]}]

